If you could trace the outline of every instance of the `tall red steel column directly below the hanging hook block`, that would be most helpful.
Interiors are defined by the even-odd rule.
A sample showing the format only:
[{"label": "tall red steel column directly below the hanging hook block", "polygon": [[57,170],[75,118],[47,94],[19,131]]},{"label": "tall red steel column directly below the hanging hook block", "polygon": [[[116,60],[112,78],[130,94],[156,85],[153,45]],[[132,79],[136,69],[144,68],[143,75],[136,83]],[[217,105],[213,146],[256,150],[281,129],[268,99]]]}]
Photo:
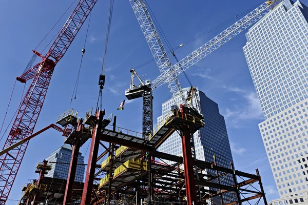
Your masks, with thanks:
[{"label": "tall red steel column directly below the hanging hook block", "polygon": [[98,111],[95,113],[97,117],[97,126],[93,129],[92,134],[92,141],[91,141],[91,148],[90,154],[88,159],[88,166],[86,172],[86,180],[84,184],[84,189],[82,193],[82,200],[81,205],[89,205],[91,202],[91,194],[93,188],[93,181],[94,181],[94,174],[95,174],[95,167],[98,158],[99,146],[100,146],[100,136],[102,132],[102,122],[105,115],[105,111]]}]

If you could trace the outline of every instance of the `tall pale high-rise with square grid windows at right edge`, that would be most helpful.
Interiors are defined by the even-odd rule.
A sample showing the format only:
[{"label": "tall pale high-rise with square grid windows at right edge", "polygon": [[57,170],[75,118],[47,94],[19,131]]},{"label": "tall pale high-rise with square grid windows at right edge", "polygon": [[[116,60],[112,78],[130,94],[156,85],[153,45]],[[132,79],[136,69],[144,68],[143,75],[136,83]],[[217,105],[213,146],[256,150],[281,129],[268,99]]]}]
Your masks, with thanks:
[{"label": "tall pale high-rise with square grid windows at right edge", "polygon": [[274,204],[303,203],[308,191],[307,20],[305,5],[284,0],[249,29],[243,47],[265,118],[259,129],[284,199]]}]

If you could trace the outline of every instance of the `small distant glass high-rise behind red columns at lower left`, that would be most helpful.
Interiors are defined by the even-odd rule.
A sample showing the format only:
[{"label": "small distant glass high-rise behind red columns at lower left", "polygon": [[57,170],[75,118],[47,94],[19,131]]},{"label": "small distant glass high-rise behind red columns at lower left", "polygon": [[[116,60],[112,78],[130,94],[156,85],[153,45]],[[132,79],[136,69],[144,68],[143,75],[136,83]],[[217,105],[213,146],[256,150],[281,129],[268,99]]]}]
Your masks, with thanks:
[{"label": "small distant glass high-rise behind red columns at lower left", "polygon": [[[48,172],[48,174],[46,174],[46,176],[58,179],[67,179],[71,155],[72,148],[66,144],[52,152],[46,160],[49,162],[57,163],[51,163],[51,170]],[[77,163],[84,163],[84,157],[82,156],[81,152],[78,154]],[[77,165],[75,181],[83,182],[85,167],[85,165]]]}]

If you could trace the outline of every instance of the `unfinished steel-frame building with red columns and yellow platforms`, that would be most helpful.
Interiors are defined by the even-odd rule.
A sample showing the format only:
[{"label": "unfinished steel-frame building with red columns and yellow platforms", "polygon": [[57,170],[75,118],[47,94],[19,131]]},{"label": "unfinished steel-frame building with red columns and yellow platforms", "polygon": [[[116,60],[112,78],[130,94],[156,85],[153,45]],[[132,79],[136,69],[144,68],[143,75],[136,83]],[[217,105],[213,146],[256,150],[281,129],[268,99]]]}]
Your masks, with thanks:
[{"label": "unfinished steel-frame building with red columns and yellow platforms", "polygon": [[[258,170],[248,174],[235,170],[232,163],[229,168],[219,167],[215,158],[212,162],[192,159],[191,135],[203,127],[204,119],[190,109],[182,106],[181,110],[171,110],[149,139],[142,138],[142,133],[117,127],[115,116],[111,120],[104,119],[104,115],[104,111],[93,115],[89,112],[83,119],[70,110],[59,116],[57,124],[65,127],[65,135],[69,133],[65,143],[73,150],[68,178],[45,177],[51,166],[48,161],[39,163],[39,177],[23,188],[20,204],[217,204],[215,197],[222,204],[253,199],[266,204]],[[181,133],[183,157],[156,151],[173,132]],[[92,140],[85,182],[74,182],[76,154],[89,138]],[[109,147],[103,141],[109,142]],[[100,147],[105,151],[98,156]],[[103,158],[106,159],[99,163]],[[164,160],[174,163],[166,164]],[[205,174],[205,170],[217,174]],[[227,176],[232,176],[233,186],[224,185]],[[236,197],[224,201],[226,193]]]}]

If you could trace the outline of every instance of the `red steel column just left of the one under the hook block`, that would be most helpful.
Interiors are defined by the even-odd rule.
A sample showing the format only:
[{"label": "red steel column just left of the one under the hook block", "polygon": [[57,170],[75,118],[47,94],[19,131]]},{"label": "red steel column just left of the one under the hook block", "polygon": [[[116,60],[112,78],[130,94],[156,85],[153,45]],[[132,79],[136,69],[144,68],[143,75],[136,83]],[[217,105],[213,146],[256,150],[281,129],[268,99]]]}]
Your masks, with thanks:
[{"label": "red steel column just left of the one under the hook block", "polygon": [[[83,131],[84,125],[82,123],[83,123],[83,119],[80,119],[78,122],[78,127],[76,131],[78,132]],[[78,163],[78,154],[79,154],[79,149],[80,149],[79,141],[80,141],[79,138],[76,138],[74,141],[74,146],[72,148],[72,155],[71,155],[71,161],[70,161],[69,171],[68,171],[68,176],[67,176],[63,205],[70,203],[71,198],[72,198],[72,191],[73,191],[73,186],[75,182],[75,175],[76,175],[76,169],[77,169],[77,163]]]}]

